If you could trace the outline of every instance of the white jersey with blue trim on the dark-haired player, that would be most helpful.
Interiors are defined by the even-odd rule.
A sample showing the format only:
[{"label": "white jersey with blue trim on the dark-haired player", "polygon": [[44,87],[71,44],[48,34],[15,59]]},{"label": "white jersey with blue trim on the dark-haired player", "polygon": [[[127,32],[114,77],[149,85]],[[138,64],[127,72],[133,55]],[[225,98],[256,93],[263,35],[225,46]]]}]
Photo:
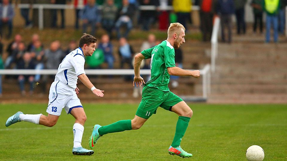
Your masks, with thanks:
[{"label": "white jersey with blue trim on the dark-haired player", "polygon": [[59,81],[57,93],[64,95],[73,95],[75,93],[78,76],[86,74],[84,71],[84,64],[85,56],[80,47],[65,56],[62,63],[59,65],[58,72],[55,76],[55,82]]}]

